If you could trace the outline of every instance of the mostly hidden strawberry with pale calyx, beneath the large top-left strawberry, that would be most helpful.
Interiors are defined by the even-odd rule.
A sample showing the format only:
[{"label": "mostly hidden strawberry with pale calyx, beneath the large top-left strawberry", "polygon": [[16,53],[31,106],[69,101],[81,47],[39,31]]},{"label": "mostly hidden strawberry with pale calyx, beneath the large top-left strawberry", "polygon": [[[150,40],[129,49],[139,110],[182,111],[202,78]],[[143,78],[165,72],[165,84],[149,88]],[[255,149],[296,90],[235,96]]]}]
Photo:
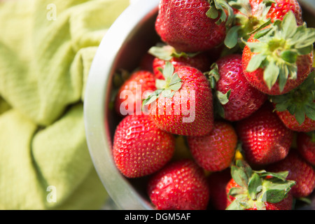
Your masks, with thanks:
[{"label": "mostly hidden strawberry with pale calyx, beneath the large top-left strawberry", "polygon": [[207,71],[211,64],[211,58],[208,57],[207,52],[176,52],[175,48],[170,45],[153,46],[148,52],[155,57],[153,73],[158,79],[164,79],[161,69],[164,69],[166,61],[171,62],[175,69],[178,66],[192,66],[202,72]]}]

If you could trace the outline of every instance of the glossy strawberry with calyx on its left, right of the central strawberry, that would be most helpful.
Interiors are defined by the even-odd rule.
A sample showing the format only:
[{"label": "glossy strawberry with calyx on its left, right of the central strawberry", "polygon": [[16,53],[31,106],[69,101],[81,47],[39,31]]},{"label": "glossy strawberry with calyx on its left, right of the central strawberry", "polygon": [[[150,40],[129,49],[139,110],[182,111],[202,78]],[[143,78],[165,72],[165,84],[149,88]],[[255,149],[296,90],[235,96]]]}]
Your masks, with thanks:
[{"label": "glossy strawberry with calyx on its left, right of the central strawberry", "polygon": [[225,120],[235,121],[250,116],[266,101],[267,95],[251,86],[244,77],[241,55],[226,55],[211,66],[209,75],[216,90],[216,111]]}]

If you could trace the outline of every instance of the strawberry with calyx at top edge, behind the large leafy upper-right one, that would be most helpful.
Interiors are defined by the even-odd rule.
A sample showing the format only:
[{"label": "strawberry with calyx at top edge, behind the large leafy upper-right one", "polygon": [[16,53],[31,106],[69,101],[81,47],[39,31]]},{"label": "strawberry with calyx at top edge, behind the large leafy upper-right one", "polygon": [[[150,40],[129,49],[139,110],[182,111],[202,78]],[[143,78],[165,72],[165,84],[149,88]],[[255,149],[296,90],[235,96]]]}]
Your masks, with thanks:
[{"label": "strawberry with calyx at top edge, behind the large leafy upper-right one", "polygon": [[302,9],[297,0],[235,0],[229,1],[235,12],[235,20],[230,27],[225,43],[229,48],[241,44],[241,38],[248,39],[251,33],[262,29],[292,11],[297,25],[303,24]]}]

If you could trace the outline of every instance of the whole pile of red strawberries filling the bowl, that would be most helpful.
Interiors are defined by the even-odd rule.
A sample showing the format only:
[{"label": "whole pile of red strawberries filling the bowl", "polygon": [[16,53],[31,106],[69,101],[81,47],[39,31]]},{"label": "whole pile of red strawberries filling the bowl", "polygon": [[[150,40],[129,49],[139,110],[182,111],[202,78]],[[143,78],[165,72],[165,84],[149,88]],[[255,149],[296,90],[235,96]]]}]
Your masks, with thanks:
[{"label": "whole pile of red strawberries filling the bowl", "polygon": [[155,209],[311,203],[315,29],[299,3],[161,0],[155,30],[116,92],[120,172],[148,177]]}]

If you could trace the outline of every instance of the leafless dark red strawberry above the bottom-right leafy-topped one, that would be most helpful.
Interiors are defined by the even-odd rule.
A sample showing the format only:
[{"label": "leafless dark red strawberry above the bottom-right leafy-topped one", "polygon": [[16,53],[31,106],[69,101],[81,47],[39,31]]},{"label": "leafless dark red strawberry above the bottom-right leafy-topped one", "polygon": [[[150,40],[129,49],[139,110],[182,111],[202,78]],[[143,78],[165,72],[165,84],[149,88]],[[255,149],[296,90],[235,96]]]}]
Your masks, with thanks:
[{"label": "leafless dark red strawberry above the bottom-right leafy-topped one", "polygon": [[283,125],[272,104],[264,105],[236,124],[244,158],[251,165],[267,165],[283,160],[293,142],[293,131]]}]

